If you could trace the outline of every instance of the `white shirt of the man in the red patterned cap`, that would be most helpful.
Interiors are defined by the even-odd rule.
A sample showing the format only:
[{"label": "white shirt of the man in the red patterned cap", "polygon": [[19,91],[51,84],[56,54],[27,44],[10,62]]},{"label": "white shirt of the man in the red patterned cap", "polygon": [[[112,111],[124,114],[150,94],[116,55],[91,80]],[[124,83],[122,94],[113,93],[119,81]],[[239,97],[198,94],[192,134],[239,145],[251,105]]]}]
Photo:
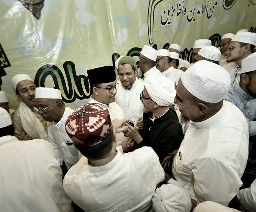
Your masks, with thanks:
[{"label": "white shirt of the man in the red patterned cap", "polygon": [[82,157],[64,177],[68,196],[85,211],[148,211],[164,170],[151,147],[117,152],[104,166]]}]

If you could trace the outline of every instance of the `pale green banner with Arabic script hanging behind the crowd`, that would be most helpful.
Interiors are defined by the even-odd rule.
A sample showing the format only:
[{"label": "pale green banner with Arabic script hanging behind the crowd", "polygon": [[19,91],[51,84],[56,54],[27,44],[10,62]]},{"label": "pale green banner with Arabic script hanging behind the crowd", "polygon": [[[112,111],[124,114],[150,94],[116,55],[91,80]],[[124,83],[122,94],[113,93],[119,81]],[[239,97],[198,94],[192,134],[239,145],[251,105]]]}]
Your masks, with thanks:
[{"label": "pale green banner with Arabic script hanging behind the crowd", "polygon": [[[0,0],[0,88],[18,107],[10,79],[27,73],[40,87],[59,88],[77,108],[88,101],[87,69],[138,60],[147,44],[180,44],[191,60],[193,42],[256,31],[256,0]],[[138,64],[138,62],[137,62]],[[99,76],[100,77],[100,76]]]}]

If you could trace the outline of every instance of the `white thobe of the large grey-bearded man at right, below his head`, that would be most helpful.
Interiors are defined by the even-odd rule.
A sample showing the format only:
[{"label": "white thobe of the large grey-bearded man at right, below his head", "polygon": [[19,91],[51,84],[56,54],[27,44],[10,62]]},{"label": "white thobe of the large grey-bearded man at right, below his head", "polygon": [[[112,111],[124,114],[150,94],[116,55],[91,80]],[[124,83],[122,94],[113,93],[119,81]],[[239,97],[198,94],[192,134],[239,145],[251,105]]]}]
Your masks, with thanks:
[{"label": "white thobe of the large grey-bearded man at right, below his head", "polygon": [[223,101],[221,110],[209,119],[190,122],[173,159],[173,176],[190,186],[198,203],[210,200],[227,206],[243,184],[248,143],[245,116]]}]

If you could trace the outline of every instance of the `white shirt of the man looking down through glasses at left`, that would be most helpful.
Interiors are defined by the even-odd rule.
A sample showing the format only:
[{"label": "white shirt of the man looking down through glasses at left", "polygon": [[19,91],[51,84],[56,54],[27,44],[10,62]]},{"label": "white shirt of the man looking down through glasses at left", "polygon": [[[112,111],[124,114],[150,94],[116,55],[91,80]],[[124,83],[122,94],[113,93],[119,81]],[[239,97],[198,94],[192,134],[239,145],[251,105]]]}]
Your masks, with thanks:
[{"label": "white shirt of the man looking down through glasses at left", "polygon": [[49,141],[58,154],[59,163],[62,165],[62,161],[64,161],[67,169],[70,169],[79,160],[78,150],[65,129],[66,120],[73,112],[73,109],[66,107],[61,120],[57,123],[50,122],[48,125]]}]

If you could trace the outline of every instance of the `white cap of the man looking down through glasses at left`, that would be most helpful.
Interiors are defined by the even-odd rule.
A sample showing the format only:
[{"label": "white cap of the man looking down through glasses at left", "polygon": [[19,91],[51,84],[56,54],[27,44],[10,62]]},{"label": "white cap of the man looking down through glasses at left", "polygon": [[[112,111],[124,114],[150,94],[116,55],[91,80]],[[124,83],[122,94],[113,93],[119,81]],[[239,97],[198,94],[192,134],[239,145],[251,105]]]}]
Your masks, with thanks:
[{"label": "white cap of the man looking down through glasses at left", "polygon": [[61,91],[55,88],[36,88],[35,99],[61,99]]}]

